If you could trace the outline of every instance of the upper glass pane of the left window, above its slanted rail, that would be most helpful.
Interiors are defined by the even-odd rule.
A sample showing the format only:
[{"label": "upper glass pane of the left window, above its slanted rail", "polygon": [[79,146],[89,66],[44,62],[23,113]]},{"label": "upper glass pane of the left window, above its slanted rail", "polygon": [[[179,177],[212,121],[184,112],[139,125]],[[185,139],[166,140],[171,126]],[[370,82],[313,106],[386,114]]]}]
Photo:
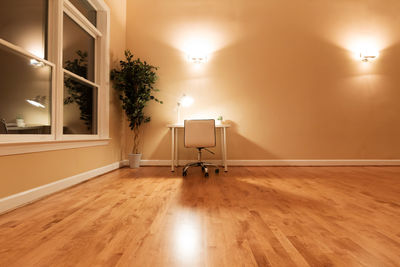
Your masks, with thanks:
[{"label": "upper glass pane of the left window, above its slanted rail", "polygon": [[46,58],[47,0],[0,1],[0,38]]}]

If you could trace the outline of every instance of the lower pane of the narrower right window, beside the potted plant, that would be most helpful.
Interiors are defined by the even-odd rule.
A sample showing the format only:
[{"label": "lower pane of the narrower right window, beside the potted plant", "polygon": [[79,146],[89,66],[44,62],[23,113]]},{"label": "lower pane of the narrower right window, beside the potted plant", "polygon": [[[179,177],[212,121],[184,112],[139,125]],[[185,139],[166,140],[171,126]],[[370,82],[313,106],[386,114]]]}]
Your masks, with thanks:
[{"label": "lower pane of the narrower right window, beside the potted plant", "polygon": [[97,134],[97,88],[64,77],[64,134]]}]

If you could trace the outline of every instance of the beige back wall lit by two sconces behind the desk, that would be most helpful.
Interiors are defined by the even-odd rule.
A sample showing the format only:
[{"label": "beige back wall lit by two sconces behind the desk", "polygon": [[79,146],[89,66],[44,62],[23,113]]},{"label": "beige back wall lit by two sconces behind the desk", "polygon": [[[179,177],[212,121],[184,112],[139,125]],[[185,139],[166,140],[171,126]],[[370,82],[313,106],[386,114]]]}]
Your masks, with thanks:
[{"label": "beige back wall lit by two sconces behind the desk", "polygon": [[[232,121],[229,159],[400,158],[399,12],[398,0],[128,1],[127,48],[160,67],[165,101],[148,108],[143,158],[169,158],[183,93],[184,117]],[[191,43],[208,63],[186,62]],[[380,58],[354,59],[360,43]]]}]

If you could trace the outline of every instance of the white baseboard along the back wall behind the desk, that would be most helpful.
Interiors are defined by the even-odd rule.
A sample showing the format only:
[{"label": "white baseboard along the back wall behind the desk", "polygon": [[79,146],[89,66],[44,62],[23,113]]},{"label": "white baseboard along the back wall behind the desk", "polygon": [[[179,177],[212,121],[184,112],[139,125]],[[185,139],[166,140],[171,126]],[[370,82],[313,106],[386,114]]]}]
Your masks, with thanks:
[{"label": "white baseboard along the back wall behind the desk", "polygon": [[[195,160],[179,160],[179,165]],[[206,160],[208,161],[208,160]],[[210,160],[211,163],[221,164],[221,160]],[[127,166],[128,161],[122,163]],[[228,166],[398,166],[398,159],[351,159],[351,160],[228,160]],[[170,160],[141,160],[141,166],[169,166]]]}]

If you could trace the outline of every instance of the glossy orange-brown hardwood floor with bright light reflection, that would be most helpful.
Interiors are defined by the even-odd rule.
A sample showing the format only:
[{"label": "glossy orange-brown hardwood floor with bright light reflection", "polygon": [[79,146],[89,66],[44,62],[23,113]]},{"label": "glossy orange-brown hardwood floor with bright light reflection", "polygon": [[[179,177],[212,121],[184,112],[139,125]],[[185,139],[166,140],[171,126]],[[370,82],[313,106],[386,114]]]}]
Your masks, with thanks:
[{"label": "glossy orange-brown hardwood floor with bright light reflection", "polygon": [[120,169],[0,216],[0,266],[400,266],[400,167]]}]

